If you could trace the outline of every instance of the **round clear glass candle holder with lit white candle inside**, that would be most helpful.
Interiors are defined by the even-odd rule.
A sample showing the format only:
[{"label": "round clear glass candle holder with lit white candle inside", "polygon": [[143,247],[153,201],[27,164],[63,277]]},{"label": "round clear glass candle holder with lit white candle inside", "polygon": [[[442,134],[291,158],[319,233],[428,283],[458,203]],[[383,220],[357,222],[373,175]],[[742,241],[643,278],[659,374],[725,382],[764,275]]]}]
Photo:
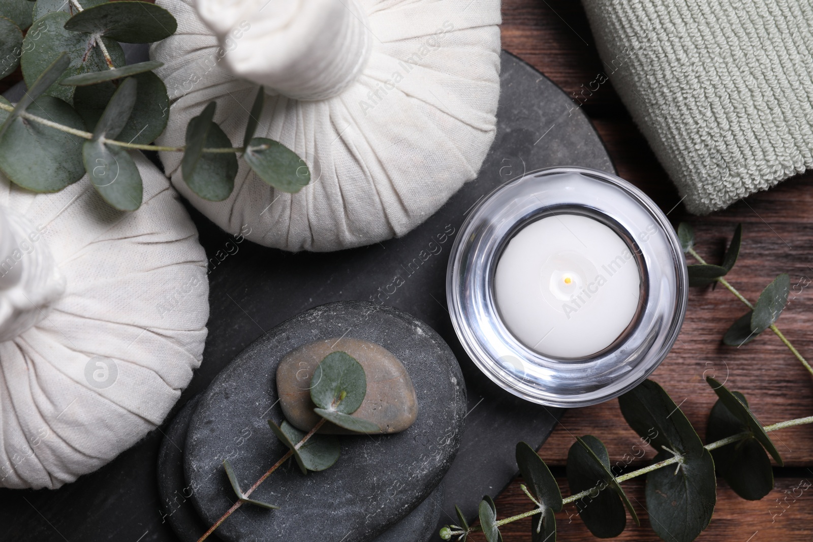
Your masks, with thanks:
[{"label": "round clear glass candle holder with lit white candle inside", "polygon": [[618,397],[659,366],[687,285],[676,233],[646,194],[603,171],[552,167],[471,211],[446,297],[489,379],[528,401],[576,407]]}]

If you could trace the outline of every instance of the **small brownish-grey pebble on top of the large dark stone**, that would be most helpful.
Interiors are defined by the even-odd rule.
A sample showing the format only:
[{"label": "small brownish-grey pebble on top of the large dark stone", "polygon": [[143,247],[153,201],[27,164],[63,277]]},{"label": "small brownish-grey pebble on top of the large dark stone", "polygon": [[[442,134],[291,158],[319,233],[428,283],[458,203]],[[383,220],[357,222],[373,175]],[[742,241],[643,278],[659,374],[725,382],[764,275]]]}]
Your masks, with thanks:
[{"label": "small brownish-grey pebble on top of the large dark stone", "polygon": [[[403,364],[393,353],[368,340],[330,337],[291,350],[276,367],[276,392],[282,414],[288,423],[302,431],[311,431],[319,423],[319,414],[311,401],[311,377],[328,353],[350,354],[364,368],[367,395],[353,418],[375,423],[381,433],[399,433],[418,417],[415,387]],[[353,435],[354,431],[325,423],[319,430],[327,435]]]}]

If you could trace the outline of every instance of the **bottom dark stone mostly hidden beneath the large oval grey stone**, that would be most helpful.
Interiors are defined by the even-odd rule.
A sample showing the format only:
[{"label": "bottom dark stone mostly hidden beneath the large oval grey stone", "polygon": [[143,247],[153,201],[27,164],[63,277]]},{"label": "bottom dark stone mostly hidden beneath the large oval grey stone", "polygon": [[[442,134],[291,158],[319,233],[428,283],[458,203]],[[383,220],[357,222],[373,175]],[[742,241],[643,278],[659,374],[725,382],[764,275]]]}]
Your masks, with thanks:
[{"label": "bottom dark stone mostly hidden beneath the large oval grey stone", "polygon": [[[186,431],[194,410],[198,408],[200,396],[195,396],[184,405],[172,419],[159,449],[158,488],[161,500],[161,518],[169,523],[172,531],[182,542],[196,542],[208,529],[189,501],[191,490],[184,478],[184,445]],[[426,542],[434,532],[434,526],[441,516],[443,505],[443,483],[410,512],[406,518],[389,527],[372,542]],[[220,540],[217,531],[208,540]]]}]

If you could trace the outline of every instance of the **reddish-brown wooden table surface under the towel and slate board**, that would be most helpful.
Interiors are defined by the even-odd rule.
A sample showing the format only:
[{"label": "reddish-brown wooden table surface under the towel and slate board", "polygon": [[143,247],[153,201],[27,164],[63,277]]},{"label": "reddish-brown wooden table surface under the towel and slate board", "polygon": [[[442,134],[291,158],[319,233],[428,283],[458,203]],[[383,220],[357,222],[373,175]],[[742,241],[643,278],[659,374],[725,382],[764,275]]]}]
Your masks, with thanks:
[{"label": "reddish-brown wooden table surface under the towel and slate board", "polygon": [[[503,0],[502,47],[533,64],[567,93],[580,90],[602,72],[585,12],[574,0]],[[582,106],[592,120],[620,176],[643,189],[668,212],[675,225],[693,224],[698,253],[719,263],[737,223],[744,228],[741,256],[728,279],[751,301],[781,272],[787,272],[794,295],[778,326],[802,355],[813,358],[813,175],[787,180],[775,189],[757,193],[709,216],[688,215],[680,197],[646,140],[611,85],[602,85]],[[701,437],[716,396],[704,382],[715,375],[746,394],[764,424],[813,414],[811,375],[771,332],[740,349],[725,346],[721,338],[746,307],[725,288],[691,288],[689,308],[674,349],[653,375],[688,416]],[[567,450],[575,436],[591,434],[609,450],[611,463],[634,453],[637,435],[621,416],[618,401],[567,411],[539,453],[559,479],[563,495],[570,492],[565,478]],[[794,501],[785,491],[800,480],[813,480],[813,427],[802,426],[772,433],[785,460],[775,467],[776,487],[762,501],[744,501],[718,479],[717,506],[711,524],[698,540],[758,542],[759,540],[813,540],[813,495],[807,490]],[[629,463],[643,466],[654,455]],[[810,467],[810,468],[808,468]],[[498,518],[520,514],[531,507],[515,479],[496,499]],[[628,520],[616,540],[659,540],[646,517],[643,479],[624,483],[641,517],[641,527]],[[798,494],[798,492],[797,492]],[[785,499],[785,497],[787,498]],[[636,502],[637,501],[637,502]],[[783,505],[780,506],[779,501]],[[593,538],[567,505],[556,517],[559,540]],[[529,519],[502,528],[506,542],[531,540]],[[485,540],[481,534],[470,540]]]}]

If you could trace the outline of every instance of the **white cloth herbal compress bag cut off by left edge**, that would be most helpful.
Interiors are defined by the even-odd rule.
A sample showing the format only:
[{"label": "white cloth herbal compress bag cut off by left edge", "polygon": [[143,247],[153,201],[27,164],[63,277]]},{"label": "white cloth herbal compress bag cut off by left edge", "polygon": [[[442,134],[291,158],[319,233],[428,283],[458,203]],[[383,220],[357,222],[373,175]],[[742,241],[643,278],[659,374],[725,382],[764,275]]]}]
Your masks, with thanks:
[{"label": "white cloth herbal compress bag cut off by left edge", "polygon": [[206,256],[167,179],[113,210],[0,175],[0,486],[59,488],[163,422],[201,362]]}]

